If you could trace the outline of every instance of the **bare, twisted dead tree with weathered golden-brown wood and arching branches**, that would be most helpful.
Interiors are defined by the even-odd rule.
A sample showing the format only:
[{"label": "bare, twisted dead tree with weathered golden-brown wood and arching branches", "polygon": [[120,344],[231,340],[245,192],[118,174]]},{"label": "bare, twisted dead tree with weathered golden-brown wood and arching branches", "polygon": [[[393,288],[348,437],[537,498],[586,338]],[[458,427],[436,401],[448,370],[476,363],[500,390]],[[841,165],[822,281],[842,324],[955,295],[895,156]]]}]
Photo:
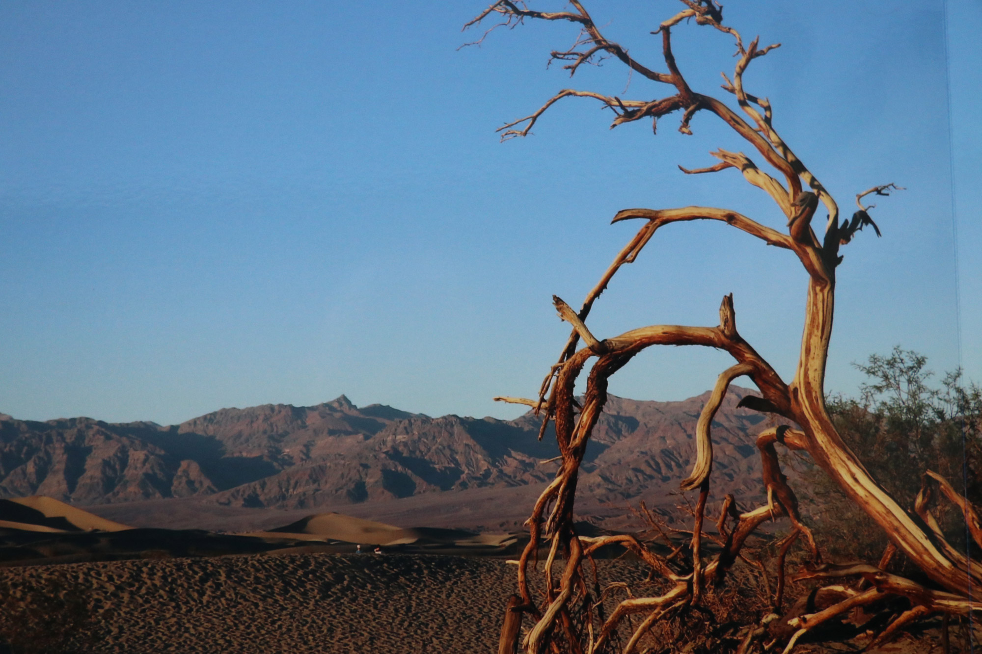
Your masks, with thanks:
[{"label": "bare, twisted dead tree with weathered golden-brown wood and arching branches", "polygon": [[[784,555],[791,542],[799,536],[803,537],[803,542],[810,548],[813,564],[798,574],[797,578],[854,575],[864,579],[857,586],[859,589],[841,584],[828,586],[827,592],[839,598],[837,603],[818,613],[791,621],[791,627],[796,630],[785,644],[786,653],[791,651],[797,639],[809,629],[854,607],[868,605],[889,596],[907,598],[912,608],[902,613],[879,634],[878,640],[881,641],[894,635],[900,627],[924,616],[937,613],[968,615],[982,610],[982,604],[974,602],[971,597],[971,588],[982,585],[982,565],[967,559],[945,539],[928,507],[931,484],[937,484],[941,494],[961,509],[970,526],[971,535],[982,546],[982,527],[979,527],[980,522],[974,509],[948,482],[938,475],[930,474],[925,476],[924,490],[918,497],[914,511],[908,512],[900,507],[871,478],[862,462],[846,446],[830,420],[825,405],[825,366],[832,334],[836,269],[843,260],[839,253],[840,247],[848,244],[856,232],[865,226],[873,227],[879,235],[879,229],[868,214],[871,206],[864,205],[863,198],[871,194],[886,195],[898,187],[886,184],[858,193],[858,210],[851,219],[841,217],[836,200],[779,135],[767,98],[755,96],[744,88],[743,74],[747,66],[780,44],[760,47],[757,38],[744,44],[736,29],[724,24],[722,8],[713,0],[682,0],[682,4],[684,7],[679,14],[652,32],[661,37],[664,72],[642,64],[625,47],[605,38],[578,0],[571,0],[571,11],[563,12],[541,12],[521,2],[498,0],[467,24],[470,27],[487,20],[495,20],[494,27],[516,27],[526,20],[573,23],[580,29],[573,47],[551,54],[552,61],[566,62],[564,68],[571,75],[583,64],[593,63],[599,57],[607,57],[622,62],[633,75],[665,84],[667,88],[663,97],[654,99],[625,99],[586,90],[564,89],[531,115],[501,128],[499,131],[502,132],[503,139],[528,135],[529,130],[553,104],[567,97],[599,101],[614,113],[612,127],[641,120],[651,120],[654,124],[663,116],[679,111],[682,112],[679,130],[684,134],[691,134],[689,126],[692,118],[698,112],[706,111],[715,114],[746,140],[776,172],[776,176],[759,168],[742,152],[724,149],[712,152],[719,159],[716,165],[693,170],[680,166],[682,171],[696,175],[735,169],[748,183],[767,192],[787,218],[786,226],[775,229],[726,208],[685,206],[669,209],[625,209],[614,216],[613,222],[636,219],[643,221],[643,225],[618,253],[597,285],[586,295],[579,310],[573,310],[569,304],[554,297],[560,316],[573,327],[559,361],[546,376],[536,399],[502,398],[529,405],[543,416],[540,438],[552,421],[562,454],[562,465],[556,478],[543,491],[526,522],[530,530],[530,540],[518,566],[521,603],[510,606],[509,609],[511,613],[523,612],[534,621],[534,626],[528,630],[521,646],[526,652],[536,653],[545,650],[586,654],[606,651],[612,635],[626,616],[645,614],[645,619],[629,637],[624,649],[625,652],[633,651],[642,635],[658,621],[676,615],[680,609],[697,606],[711,584],[718,584],[726,578],[747,537],[764,520],[774,517],[786,517],[791,525],[791,536],[782,543],[779,559],[779,594],[784,584]],[[732,79],[724,74],[726,82],[723,88],[736,98],[739,112],[742,113],[715,97],[693,90],[685,82],[672,53],[672,30],[683,22],[691,21],[698,26],[725,32],[736,40],[736,70]],[[488,29],[484,36],[494,27]],[[813,218],[820,203],[829,215],[824,229],[816,231]],[[590,310],[621,267],[634,261],[660,228],[690,220],[725,223],[767,245],[788,250],[804,266],[808,274],[804,334],[797,367],[790,382],[782,379],[740,337],[736,330],[732,296],[723,299],[720,323],[716,326],[652,325],[606,339],[599,339],[590,332],[586,325]],[[580,343],[583,347],[580,347]],[[696,430],[696,462],[691,474],[682,482],[683,490],[698,490],[699,493],[690,543],[692,559],[683,570],[675,562],[656,555],[630,536],[585,538],[578,536],[573,526],[577,472],[591,431],[607,400],[608,379],[627,364],[632,356],[645,348],[659,345],[717,348],[728,352],[735,359],[734,365],[720,374],[711,398],[702,409]],[[591,360],[585,394],[577,402],[573,395],[573,386]],[[748,399],[744,406],[787,418],[799,425],[800,429],[782,426],[768,429],[759,435],[757,446],[763,459],[763,484],[768,502],[742,514],[736,512],[728,502],[718,521],[721,535],[725,536],[725,544],[718,556],[704,561],[701,556],[701,539],[704,535],[703,522],[706,519],[706,500],[713,469],[710,425],[728,387],[740,376],[749,377],[762,396]],[[797,500],[781,471],[776,450],[778,445],[806,453],[821,466],[846,496],[889,535],[891,547],[905,555],[931,580],[931,587],[883,570],[889,557],[885,557],[879,566],[837,566],[823,563],[811,532],[799,518]],[[732,526],[727,526],[728,519],[732,520]],[[636,553],[653,571],[671,584],[668,592],[660,596],[627,599],[611,615],[603,617],[597,614],[593,604],[597,598],[592,597],[588,591],[584,562],[598,548],[613,543]],[[543,597],[536,597],[529,590],[529,562],[540,546],[545,544],[550,547],[543,578],[545,591]],[[556,585],[552,569],[561,560],[565,560],[565,564]],[[513,627],[512,630],[516,628]],[[761,631],[762,629],[757,629],[756,633]],[[741,651],[747,651],[753,633],[755,632],[748,633],[747,640],[740,647]],[[775,644],[777,643],[770,643],[769,648]],[[502,646],[506,647],[504,643]]]}]

